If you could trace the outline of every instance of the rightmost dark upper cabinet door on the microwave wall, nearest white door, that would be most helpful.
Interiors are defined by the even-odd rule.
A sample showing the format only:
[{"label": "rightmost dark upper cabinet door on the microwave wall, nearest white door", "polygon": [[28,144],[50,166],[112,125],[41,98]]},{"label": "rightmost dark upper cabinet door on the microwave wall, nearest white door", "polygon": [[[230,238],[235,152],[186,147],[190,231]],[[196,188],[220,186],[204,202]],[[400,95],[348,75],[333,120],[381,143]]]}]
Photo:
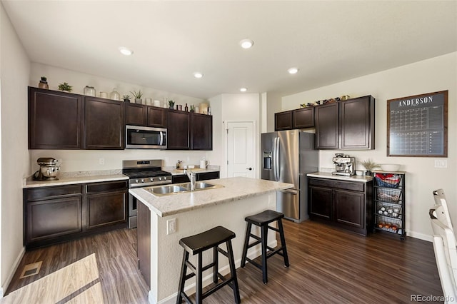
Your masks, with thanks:
[{"label": "rightmost dark upper cabinet door on the microwave wall, nearest white door", "polygon": [[213,150],[213,116],[192,113],[192,150]]}]

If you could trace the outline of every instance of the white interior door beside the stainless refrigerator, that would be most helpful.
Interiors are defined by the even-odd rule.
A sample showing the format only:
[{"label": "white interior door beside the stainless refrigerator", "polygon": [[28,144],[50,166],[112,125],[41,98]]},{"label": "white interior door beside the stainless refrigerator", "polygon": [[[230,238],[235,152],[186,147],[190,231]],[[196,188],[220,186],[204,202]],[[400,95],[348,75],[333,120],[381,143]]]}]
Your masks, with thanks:
[{"label": "white interior door beside the stainless refrigerator", "polygon": [[227,176],[256,176],[254,122],[227,123]]}]

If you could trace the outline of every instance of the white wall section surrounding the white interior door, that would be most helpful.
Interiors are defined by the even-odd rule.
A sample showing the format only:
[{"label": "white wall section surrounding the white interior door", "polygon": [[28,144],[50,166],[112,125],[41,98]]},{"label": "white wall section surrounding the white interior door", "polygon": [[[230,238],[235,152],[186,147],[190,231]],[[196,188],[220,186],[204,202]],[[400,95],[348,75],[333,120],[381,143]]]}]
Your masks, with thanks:
[{"label": "white wall section surrounding the white interior door", "polygon": [[[213,121],[214,138],[218,145],[213,145],[213,151],[209,153],[209,161],[217,159],[221,163],[221,177],[227,176],[227,138],[226,123],[229,121],[254,121],[256,133],[256,156],[260,151],[260,113],[261,96],[258,93],[221,94],[210,98]],[[220,119],[219,119],[220,117]],[[215,118],[213,118],[215,119]],[[219,126],[218,126],[219,125]],[[256,164],[256,177],[259,176],[258,164]]]}]

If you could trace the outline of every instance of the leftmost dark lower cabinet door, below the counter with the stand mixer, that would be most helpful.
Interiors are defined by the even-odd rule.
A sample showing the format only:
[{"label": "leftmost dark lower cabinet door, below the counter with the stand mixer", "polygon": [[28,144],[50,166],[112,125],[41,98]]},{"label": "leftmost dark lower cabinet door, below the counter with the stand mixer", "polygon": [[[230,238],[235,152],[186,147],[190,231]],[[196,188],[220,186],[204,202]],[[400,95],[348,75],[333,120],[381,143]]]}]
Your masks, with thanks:
[{"label": "leftmost dark lower cabinet door, below the counter with the stand mixer", "polygon": [[82,230],[81,196],[26,203],[26,244]]}]

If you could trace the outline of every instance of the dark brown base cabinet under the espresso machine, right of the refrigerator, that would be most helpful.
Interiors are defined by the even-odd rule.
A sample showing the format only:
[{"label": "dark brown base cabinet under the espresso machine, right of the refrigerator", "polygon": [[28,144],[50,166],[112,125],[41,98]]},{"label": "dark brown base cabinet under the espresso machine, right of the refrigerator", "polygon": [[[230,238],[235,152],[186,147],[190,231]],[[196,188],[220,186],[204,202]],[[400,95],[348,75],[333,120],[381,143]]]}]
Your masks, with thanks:
[{"label": "dark brown base cabinet under the espresso machine, right of the refrigerator", "polygon": [[327,221],[363,235],[373,228],[373,181],[310,177],[308,185],[308,213],[312,220]]}]

